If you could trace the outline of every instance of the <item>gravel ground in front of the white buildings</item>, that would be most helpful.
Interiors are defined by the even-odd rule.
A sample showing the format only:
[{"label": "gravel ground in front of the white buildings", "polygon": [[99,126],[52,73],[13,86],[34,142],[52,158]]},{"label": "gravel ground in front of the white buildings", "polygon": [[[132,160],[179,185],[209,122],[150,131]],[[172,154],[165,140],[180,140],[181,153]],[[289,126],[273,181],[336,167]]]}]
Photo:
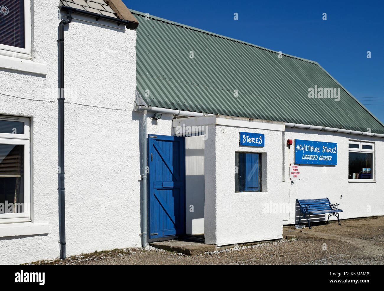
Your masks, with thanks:
[{"label": "gravel ground in front of the white buildings", "polygon": [[229,265],[383,265],[384,217],[356,218],[314,224],[302,231],[294,226],[283,227],[283,235],[296,238],[252,246],[187,256],[156,249],[126,248],[71,256],[66,260],[38,261],[30,264],[111,265],[111,264],[229,264]]}]

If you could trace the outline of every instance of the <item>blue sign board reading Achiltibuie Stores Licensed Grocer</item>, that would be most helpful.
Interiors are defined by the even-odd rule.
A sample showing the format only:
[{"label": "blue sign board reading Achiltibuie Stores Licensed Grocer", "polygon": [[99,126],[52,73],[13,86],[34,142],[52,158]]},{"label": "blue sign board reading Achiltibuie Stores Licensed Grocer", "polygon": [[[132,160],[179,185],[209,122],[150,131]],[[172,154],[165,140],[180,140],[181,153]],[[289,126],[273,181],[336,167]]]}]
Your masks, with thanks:
[{"label": "blue sign board reading Achiltibuie Stores Licensed Grocer", "polygon": [[337,165],[337,143],[295,139],[295,164]]}]

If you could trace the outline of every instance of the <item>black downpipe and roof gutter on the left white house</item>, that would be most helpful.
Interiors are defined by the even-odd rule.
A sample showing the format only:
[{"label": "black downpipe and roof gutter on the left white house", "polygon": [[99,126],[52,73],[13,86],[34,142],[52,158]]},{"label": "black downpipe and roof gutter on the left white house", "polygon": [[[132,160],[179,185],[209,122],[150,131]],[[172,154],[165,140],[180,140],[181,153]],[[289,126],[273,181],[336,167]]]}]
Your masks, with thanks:
[{"label": "black downpipe and roof gutter on the left white house", "polygon": [[[106,15],[79,10],[68,6],[60,6],[60,10],[67,12],[67,19],[61,20],[58,28],[58,193],[59,193],[59,243],[60,243],[60,259],[66,258],[66,241],[65,241],[65,187],[64,187],[64,26],[72,21],[72,12],[95,17],[96,21],[104,19],[113,21],[118,25],[123,24],[126,28],[136,29],[138,23],[130,22],[120,18],[109,17]],[[145,173],[145,169],[144,169]],[[145,177],[146,179],[146,177]],[[146,186],[145,186],[146,187]]]}]

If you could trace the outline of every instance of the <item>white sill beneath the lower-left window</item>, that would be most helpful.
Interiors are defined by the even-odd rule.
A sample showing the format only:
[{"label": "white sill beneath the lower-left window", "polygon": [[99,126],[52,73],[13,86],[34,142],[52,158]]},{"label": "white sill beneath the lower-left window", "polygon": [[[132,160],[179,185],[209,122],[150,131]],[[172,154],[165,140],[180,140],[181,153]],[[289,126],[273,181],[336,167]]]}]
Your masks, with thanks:
[{"label": "white sill beneath the lower-left window", "polygon": [[45,235],[49,233],[49,225],[46,223],[7,223],[0,225],[0,238],[21,235]]}]

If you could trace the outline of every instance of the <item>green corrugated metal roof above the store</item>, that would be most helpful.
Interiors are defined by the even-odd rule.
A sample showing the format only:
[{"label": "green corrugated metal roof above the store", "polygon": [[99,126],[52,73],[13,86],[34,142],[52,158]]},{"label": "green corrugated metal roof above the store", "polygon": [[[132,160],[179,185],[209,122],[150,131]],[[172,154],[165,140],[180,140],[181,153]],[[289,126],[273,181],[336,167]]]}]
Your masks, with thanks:
[{"label": "green corrugated metal roof above the store", "polygon": [[[147,105],[384,134],[314,61],[131,11],[139,20],[137,91]],[[308,98],[315,85],[340,88],[340,101]]]}]

